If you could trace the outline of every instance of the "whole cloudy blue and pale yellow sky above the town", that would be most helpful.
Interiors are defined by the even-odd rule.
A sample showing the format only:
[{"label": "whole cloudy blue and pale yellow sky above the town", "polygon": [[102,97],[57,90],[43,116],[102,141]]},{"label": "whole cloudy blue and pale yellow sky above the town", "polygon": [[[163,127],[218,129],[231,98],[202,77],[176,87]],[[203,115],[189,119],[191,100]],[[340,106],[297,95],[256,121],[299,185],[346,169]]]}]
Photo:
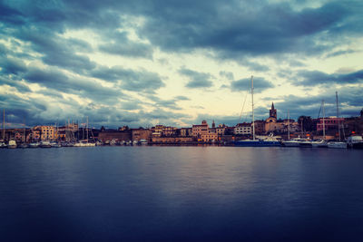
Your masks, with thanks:
[{"label": "whole cloudy blue and pale yellow sky above the town", "polygon": [[0,0],[7,127],[358,116],[363,2]]}]

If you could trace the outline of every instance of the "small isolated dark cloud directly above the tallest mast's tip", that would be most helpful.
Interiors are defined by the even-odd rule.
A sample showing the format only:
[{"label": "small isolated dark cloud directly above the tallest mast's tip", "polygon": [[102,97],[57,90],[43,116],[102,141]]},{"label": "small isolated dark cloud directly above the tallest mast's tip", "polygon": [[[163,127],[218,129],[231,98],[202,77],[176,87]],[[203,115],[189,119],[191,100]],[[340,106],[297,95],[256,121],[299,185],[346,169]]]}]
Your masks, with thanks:
[{"label": "small isolated dark cloud directly above the tallest mast's tip", "polygon": [[[266,89],[274,87],[274,84],[265,80],[263,77],[253,77],[253,90],[254,92],[263,92]],[[240,79],[238,81],[231,82],[231,91],[250,91],[251,81],[250,78]]]}]

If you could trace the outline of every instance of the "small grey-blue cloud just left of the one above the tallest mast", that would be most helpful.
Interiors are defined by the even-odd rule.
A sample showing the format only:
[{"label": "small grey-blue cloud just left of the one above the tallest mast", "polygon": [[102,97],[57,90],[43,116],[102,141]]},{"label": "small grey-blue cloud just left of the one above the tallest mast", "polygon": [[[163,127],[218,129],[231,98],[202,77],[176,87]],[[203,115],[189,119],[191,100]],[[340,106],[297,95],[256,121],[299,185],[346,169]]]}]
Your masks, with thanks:
[{"label": "small grey-blue cloud just left of the one above the tallest mast", "polygon": [[213,85],[212,76],[209,73],[198,73],[185,68],[179,70],[179,73],[190,79],[185,85],[187,88],[208,88]]}]

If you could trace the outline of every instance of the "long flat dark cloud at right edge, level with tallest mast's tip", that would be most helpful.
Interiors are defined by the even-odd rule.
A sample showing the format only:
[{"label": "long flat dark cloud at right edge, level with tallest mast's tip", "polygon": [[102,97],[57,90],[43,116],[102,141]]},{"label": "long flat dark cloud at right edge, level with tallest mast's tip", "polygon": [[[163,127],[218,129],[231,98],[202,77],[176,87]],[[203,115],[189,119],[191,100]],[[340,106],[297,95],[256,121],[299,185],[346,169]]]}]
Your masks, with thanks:
[{"label": "long flat dark cloud at right edge, level with tallest mast's tip", "polygon": [[315,86],[319,84],[347,84],[358,83],[363,81],[363,70],[355,73],[322,73],[319,71],[300,71],[296,74],[297,82],[295,85]]}]

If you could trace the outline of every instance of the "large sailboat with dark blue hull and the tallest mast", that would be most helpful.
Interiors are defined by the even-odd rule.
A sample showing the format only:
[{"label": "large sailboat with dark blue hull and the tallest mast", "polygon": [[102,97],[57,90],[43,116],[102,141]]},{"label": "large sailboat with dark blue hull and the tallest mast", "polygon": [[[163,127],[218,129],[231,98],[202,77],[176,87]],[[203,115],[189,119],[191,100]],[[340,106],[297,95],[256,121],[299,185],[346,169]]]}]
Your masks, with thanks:
[{"label": "large sailboat with dark blue hull and the tallest mast", "polygon": [[234,141],[234,146],[242,146],[242,147],[270,147],[270,146],[281,146],[279,140],[274,138],[272,135],[265,139],[256,139],[255,136],[255,113],[254,113],[254,104],[253,104],[253,75],[250,77],[251,82],[251,96],[252,96],[252,139],[253,140],[238,140]]}]

